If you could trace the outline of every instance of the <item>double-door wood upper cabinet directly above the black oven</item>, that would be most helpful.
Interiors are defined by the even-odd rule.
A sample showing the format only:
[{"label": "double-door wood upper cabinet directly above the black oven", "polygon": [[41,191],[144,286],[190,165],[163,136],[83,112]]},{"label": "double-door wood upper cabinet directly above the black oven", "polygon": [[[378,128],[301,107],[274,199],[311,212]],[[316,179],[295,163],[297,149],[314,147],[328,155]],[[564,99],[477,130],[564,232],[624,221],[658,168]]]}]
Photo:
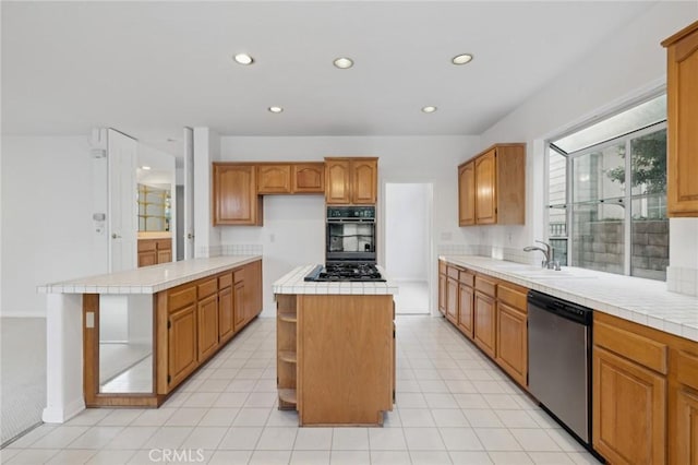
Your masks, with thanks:
[{"label": "double-door wood upper cabinet directly above the black oven", "polygon": [[325,158],[325,201],[329,204],[374,204],[377,158]]}]

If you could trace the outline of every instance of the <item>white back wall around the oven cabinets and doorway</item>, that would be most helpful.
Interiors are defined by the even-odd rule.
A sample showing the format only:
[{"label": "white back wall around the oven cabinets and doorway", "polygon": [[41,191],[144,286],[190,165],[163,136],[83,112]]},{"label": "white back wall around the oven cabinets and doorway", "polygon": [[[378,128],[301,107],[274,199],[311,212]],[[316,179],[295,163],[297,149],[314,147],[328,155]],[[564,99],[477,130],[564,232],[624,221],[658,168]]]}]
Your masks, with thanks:
[{"label": "white back wall around the oven cabinets and doorway", "polygon": [[[227,162],[322,160],[325,156],[377,156],[378,263],[385,263],[385,182],[432,182],[434,206],[429,273],[435,279],[436,247],[450,235],[452,242],[477,240],[477,234],[458,228],[456,166],[470,157],[479,138],[221,138],[220,157]],[[201,187],[196,187],[198,191]],[[322,195],[266,195],[264,226],[219,226],[221,243],[254,243],[264,248],[264,315],[274,314],[272,283],[308,263],[324,262],[324,198]],[[435,301],[435,293],[432,293]],[[435,308],[435,303],[433,303]]]}]

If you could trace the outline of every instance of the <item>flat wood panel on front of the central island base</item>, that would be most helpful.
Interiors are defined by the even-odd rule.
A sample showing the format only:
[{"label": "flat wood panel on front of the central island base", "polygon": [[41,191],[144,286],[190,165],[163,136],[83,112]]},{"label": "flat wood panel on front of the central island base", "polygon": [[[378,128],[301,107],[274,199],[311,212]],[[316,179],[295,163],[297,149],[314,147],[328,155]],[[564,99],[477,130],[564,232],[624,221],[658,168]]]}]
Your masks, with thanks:
[{"label": "flat wood panel on front of the central island base", "polygon": [[298,296],[299,425],[383,425],[393,409],[393,296]]}]

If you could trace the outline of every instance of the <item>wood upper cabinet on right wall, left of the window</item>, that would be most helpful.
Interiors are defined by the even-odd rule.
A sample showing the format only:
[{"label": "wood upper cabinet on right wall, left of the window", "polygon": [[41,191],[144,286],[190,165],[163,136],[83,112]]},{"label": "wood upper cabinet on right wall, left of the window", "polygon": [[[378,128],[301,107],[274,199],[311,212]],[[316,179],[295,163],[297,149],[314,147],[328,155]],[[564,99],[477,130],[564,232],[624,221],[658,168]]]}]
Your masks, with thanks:
[{"label": "wood upper cabinet on right wall, left of the window", "polygon": [[526,144],[496,144],[458,167],[458,224],[522,225]]}]

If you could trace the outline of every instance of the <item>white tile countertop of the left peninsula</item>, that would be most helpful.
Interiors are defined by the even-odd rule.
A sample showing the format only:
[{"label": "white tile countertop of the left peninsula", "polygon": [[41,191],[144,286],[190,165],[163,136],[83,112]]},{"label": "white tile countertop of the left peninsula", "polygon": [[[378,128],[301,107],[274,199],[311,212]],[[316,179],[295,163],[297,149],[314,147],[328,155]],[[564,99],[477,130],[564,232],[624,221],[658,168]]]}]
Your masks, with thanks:
[{"label": "white tile countertop of the left peninsula", "polygon": [[163,263],[38,286],[40,294],[155,294],[261,260],[262,255],[215,257]]}]

